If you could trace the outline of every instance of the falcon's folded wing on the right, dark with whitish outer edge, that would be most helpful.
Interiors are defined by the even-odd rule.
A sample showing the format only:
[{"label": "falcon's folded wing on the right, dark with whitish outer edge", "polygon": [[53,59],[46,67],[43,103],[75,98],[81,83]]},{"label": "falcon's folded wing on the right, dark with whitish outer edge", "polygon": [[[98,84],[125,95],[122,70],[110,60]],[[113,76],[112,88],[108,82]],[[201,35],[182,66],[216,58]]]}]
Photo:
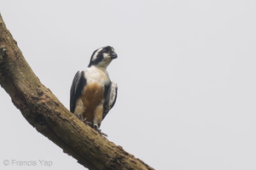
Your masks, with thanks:
[{"label": "falcon's folded wing on the right, dark with whitish outer edge", "polygon": [[110,111],[113,108],[113,105],[115,104],[118,92],[118,85],[116,82],[111,82],[108,87],[105,87],[105,90],[106,93],[104,95],[105,103],[103,105],[102,120],[108,114],[108,111]]}]

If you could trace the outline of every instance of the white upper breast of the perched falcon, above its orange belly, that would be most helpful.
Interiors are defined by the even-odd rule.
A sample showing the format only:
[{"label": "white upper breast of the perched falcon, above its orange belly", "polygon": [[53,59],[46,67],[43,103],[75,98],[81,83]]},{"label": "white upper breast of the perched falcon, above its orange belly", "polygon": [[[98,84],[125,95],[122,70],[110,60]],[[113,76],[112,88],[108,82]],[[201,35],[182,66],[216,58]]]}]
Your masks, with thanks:
[{"label": "white upper breast of the perched falcon, above its orange belly", "polygon": [[104,86],[110,82],[108,77],[108,72],[106,70],[102,70],[97,68],[96,66],[90,66],[84,72],[84,77],[86,78],[86,83],[97,83],[100,86]]}]

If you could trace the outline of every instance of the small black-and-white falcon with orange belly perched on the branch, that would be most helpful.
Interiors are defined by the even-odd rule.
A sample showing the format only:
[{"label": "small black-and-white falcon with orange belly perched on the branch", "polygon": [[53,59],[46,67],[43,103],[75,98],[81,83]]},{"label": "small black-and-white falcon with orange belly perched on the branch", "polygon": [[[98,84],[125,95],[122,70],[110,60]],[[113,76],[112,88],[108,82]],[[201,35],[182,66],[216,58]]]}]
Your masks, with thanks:
[{"label": "small black-and-white falcon with orange belly perched on the branch", "polygon": [[110,81],[107,71],[117,57],[110,46],[96,49],[88,68],[76,73],[70,89],[70,111],[98,132],[117,97],[117,83]]}]

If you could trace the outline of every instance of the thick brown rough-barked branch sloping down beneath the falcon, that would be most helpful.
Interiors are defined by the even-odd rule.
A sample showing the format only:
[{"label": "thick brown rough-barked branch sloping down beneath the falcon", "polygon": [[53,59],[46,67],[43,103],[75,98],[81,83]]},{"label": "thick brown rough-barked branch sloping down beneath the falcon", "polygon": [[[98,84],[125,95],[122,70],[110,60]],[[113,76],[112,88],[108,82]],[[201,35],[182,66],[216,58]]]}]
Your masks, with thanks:
[{"label": "thick brown rough-barked branch sloping down beneath the falcon", "polygon": [[81,122],[39,81],[0,14],[0,84],[32,127],[94,169],[153,169]]}]

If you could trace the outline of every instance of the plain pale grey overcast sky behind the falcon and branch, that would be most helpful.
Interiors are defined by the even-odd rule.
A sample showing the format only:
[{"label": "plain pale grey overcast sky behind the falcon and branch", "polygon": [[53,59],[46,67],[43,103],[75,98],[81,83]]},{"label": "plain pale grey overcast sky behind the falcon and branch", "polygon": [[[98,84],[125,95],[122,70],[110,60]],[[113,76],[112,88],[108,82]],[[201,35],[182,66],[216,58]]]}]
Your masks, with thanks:
[{"label": "plain pale grey overcast sky behind the falcon and branch", "polygon": [[[115,48],[108,73],[119,96],[102,132],[151,167],[256,169],[255,1],[1,0],[0,12],[67,108],[75,72],[96,48]],[[84,169],[26,122],[3,88],[0,105],[0,169]]]}]

